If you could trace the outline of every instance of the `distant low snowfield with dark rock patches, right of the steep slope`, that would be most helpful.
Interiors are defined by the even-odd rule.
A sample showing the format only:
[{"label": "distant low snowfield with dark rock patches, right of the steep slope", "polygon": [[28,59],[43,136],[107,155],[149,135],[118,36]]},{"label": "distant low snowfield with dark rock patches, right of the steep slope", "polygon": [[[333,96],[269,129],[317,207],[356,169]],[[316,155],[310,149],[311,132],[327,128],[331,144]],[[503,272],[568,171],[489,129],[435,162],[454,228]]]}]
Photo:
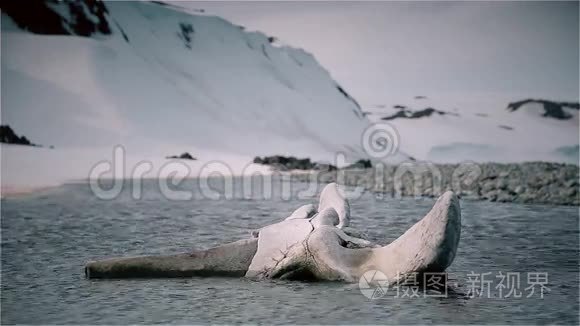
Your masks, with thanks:
[{"label": "distant low snowfield with dark rock patches, right of the steep slope", "polygon": [[578,164],[577,102],[419,96],[365,111],[372,121],[392,124],[401,147],[421,160]]}]

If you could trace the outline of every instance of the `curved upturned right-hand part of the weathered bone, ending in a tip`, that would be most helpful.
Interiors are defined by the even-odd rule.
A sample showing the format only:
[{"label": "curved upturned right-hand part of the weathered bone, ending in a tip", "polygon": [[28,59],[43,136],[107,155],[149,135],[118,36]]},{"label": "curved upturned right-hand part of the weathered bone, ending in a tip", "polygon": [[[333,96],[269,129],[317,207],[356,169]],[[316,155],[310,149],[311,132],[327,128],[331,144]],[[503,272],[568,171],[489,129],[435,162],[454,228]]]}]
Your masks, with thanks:
[{"label": "curved upturned right-hand part of the weathered bone, ending in a tip", "polygon": [[358,281],[369,270],[378,270],[391,282],[411,273],[442,272],[455,258],[461,233],[459,200],[448,191],[431,211],[391,244],[380,248],[349,249],[337,244],[328,227],[308,238],[308,255],[314,257],[316,278]]}]

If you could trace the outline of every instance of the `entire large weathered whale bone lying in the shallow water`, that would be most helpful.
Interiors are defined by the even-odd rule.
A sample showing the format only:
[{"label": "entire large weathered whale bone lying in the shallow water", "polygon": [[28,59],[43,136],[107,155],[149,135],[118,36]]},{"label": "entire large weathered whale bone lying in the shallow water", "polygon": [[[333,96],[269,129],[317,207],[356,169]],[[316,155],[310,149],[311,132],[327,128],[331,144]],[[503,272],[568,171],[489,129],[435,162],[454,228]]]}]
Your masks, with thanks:
[{"label": "entire large weathered whale bone lying in the shallow water", "polygon": [[415,272],[442,272],[455,258],[461,233],[459,199],[448,191],[431,211],[386,246],[347,235],[350,209],[336,184],[321,193],[318,211],[305,205],[257,238],[192,253],[89,262],[89,278],[245,276],[357,282],[378,270],[389,282]]}]

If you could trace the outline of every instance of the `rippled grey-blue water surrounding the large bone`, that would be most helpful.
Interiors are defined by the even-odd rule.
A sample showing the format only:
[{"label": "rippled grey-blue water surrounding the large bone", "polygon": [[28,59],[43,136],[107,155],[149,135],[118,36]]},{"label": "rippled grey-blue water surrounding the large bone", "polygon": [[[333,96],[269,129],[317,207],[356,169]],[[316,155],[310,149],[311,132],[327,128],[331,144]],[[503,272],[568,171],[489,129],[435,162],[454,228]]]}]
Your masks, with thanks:
[{"label": "rippled grey-blue water surrounding the large bone", "polygon": [[[207,248],[245,238],[315,202],[276,195],[212,200],[199,190],[193,200],[170,201],[156,189],[148,181],[140,200],[127,190],[104,201],[86,184],[71,184],[2,200],[2,324],[579,322],[575,207],[462,201],[461,242],[444,298],[422,292],[402,298],[391,289],[371,300],[357,284],[333,282],[85,279],[88,260]],[[388,243],[433,203],[365,193],[351,201],[352,224],[371,240]],[[489,273],[484,276],[493,281],[489,296],[471,298],[472,271]],[[499,292],[499,272],[519,273],[515,288],[522,298]],[[526,298],[529,272],[547,273],[543,298],[539,287]]]}]

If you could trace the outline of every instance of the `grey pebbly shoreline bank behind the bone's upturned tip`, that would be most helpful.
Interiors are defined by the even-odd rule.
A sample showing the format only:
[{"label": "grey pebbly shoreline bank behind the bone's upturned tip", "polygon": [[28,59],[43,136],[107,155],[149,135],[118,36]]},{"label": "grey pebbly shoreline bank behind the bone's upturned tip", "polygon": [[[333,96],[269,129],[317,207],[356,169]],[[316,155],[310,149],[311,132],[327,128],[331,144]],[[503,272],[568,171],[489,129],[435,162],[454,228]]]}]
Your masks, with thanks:
[{"label": "grey pebbly shoreline bank behind the bone's upturned tip", "polygon": [[453,190],[463,198],[491,202],[580,205],[577,165],[529,162],[375,165],[291,173],[293,181],[363,187],[385,196],[437,197]]}]

